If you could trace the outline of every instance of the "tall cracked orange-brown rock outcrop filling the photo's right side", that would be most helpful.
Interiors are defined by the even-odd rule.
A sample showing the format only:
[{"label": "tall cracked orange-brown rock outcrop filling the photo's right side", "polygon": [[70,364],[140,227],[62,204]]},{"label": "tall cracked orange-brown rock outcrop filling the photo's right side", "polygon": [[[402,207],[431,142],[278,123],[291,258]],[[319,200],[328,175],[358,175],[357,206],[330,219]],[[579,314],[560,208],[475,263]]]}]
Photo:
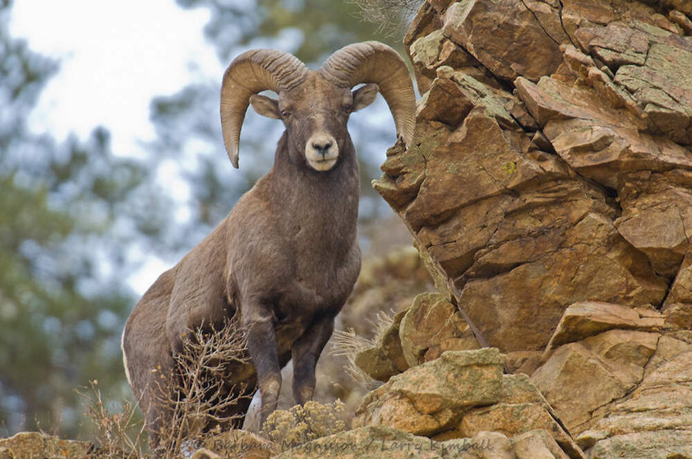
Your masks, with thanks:
[{"label": "tall cracked orange-brown rock outcrop filling the photo's right side", "polygon": [[[553,413],[592,458],[690,457],[688,3],[421,6],[405,39],[423,95],[415,142],[390,148],[373,185],[440,294],[417,298],[399,343],[390,331],[411,368],[382,378],[356,424],[401,410],[392,426],[417,435],[472,437],[473,421],[513,438],[494,420]],[[454,354],[441,352],[479,342],[546,405],[469,409],[414,387]]]}]

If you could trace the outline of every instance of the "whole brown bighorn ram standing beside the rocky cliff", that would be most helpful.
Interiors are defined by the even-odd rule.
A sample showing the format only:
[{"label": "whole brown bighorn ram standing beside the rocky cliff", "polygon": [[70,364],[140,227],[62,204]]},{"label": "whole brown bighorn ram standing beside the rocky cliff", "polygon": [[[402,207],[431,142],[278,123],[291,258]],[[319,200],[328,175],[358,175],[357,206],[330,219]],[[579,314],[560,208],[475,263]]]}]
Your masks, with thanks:
[{"label": "whole brown bighorn ram standing beside the rocky cliff", "polygon": [[[361,83],[365,86],[352,91]],[[258,94],[266,89],[278,93],[278,100]],[[286,130],[273,168],[154,282],[127,320],[125,369],[152,442],[156,426],[165,422],[147,391],[155,384],[152,369],[173,370],[187,332],[234,314],[246,330],[254,365],[230,378],[242,377],[251,388],[259,384],[262,422],[276,408],[280,370],[289,359],[295,402],[311,399],[317,359],[361,266],[358,161],[346,124],[377,91],[410,145],[415,95],[406,64],[389,46],[345,46],[317,71],[289,53],[266,49],[243,53],[228,66],[221,125],[233,165],[238,167],[248,103],[257,113],[282,120]],[[235,413],[244,415],[248,403],[239,403]]]}]

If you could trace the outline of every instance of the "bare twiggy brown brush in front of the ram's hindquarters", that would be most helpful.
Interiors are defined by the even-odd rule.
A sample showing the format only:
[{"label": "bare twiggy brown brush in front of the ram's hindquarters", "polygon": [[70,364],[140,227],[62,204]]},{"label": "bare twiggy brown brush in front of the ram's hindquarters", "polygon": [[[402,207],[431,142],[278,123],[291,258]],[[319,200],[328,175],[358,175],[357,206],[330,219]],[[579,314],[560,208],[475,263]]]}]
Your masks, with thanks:
[{"label": "bare twiggy brown brush in front of the ram's hindquarters", "polygon": [[[200,327],[188,334],[183,350],[174,357],[176,368],[170,375],[161,375],[153,388],[156,403],[165,415],[157,431],[158,445],[145,453],[143,422],[134,421],[135,407],[125,402],[122,411],[110,411],[102,401],[96,382],[91,393],[84,394],[86,415],[99,431],[100,451],[106,458],[173,459],[191,456],[192,451],[212,433],[229,429],[244,413],[233,413],[242,399],[250,398],[252,390],[244,384],[228,385],[230,365],[246,365],[246,335],[236,320],[220,327]],[[152,372],[161,372],[153,368]],[[249,394],[249,395],[248,395]],[[213,426],[214,429],[211,429]]]}]

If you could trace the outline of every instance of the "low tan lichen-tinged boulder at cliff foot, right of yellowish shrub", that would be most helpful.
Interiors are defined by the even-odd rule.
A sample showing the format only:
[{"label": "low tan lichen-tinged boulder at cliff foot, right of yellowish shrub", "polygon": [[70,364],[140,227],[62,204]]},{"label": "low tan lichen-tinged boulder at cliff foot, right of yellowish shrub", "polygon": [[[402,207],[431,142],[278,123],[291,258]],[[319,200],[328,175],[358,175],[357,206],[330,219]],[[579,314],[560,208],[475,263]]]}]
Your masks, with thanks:
[{"label": "low tan lichen-tinged boulder at cliff foot, right of yellowish shrub", "polygon": [[444,352],[367,394],[352,426],[388,426],[441,442],[484,432],[513,438],[539,430],[560,445],[563,455],[583,458],[529,378],[503,375],[503,370],[504,356],[496,348]]}]

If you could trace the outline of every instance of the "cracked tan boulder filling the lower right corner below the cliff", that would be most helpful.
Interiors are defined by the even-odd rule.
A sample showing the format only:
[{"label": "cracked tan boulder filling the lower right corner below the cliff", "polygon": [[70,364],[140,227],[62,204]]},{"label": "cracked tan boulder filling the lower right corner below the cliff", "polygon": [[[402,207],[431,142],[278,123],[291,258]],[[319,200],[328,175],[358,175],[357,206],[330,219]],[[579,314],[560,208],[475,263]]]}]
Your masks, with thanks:
[{"label": "cracked tan boulder filling the lower right corner below the cliff", "polygon": [[581,303],[531,381],[590,457],[675,457],[690,451],[691,356],[692,331],[659,312]]}]

